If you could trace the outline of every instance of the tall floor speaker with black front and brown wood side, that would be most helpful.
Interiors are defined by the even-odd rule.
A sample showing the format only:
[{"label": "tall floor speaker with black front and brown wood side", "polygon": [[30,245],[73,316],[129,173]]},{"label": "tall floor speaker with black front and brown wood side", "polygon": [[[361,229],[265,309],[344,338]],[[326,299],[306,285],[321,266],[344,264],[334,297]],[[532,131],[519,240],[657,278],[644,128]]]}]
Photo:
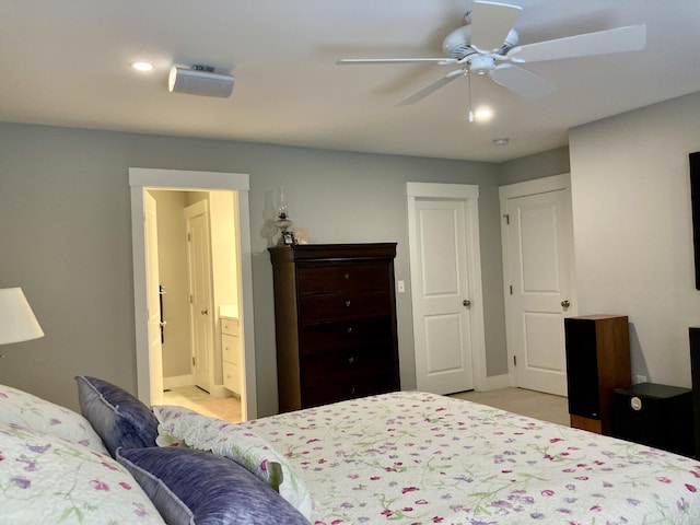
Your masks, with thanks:
[{"label": "tall floor speaker with black front and brown wood side", "polygon": [[627,316],[564,318],[571,427],[609,435],[615,388],[631,385]]}]

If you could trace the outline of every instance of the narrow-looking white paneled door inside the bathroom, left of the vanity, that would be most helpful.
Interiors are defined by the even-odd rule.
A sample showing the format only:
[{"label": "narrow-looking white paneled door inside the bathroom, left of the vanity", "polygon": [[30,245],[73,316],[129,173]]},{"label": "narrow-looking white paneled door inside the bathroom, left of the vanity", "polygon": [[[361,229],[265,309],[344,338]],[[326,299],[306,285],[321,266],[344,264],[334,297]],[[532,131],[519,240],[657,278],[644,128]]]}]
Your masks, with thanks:
[{"label": "narrow-looking white paneled door inside the bathroom, left of the vanity", "polygon": [[213,366],[213,312],[211,283],[211,242],[207,202],[185,209],[187,261],[189,272],[190,323],[192,334],[192,376],[195,384],[209,392]]}]

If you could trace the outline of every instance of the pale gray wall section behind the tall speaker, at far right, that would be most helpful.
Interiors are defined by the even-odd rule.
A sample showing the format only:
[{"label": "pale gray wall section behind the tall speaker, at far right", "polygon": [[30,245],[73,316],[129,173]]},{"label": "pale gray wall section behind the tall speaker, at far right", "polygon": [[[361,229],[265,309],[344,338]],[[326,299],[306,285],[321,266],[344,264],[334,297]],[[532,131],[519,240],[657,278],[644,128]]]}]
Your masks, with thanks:
[{"label": "pale gray wall section behind the tall speaker, at far right", "polygon": [[691,386],[695,288],[688,153],[700,93],[571,130],[579,313],[628,315],[632,380]]}]

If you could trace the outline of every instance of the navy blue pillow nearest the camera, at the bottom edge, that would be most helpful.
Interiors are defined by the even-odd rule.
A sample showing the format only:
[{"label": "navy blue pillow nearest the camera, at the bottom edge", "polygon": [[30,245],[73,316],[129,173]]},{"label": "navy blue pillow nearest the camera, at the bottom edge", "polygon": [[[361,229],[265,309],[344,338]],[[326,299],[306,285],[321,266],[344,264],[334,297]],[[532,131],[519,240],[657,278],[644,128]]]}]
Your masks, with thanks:
[{"label": "navy blue pillow nearest the camera, at the bottom edge", "polygon": [[168,525],[308,525],[287,500],[237,463],[194,448],[117,451]]}]

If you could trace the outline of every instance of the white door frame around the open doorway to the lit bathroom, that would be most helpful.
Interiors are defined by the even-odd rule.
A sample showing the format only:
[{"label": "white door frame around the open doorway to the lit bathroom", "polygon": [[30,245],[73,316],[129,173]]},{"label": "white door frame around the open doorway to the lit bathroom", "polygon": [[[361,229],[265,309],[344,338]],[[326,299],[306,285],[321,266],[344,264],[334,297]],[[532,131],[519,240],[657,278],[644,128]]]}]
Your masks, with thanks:
[{"label": "white door frame around the open doorway to the lit bathroom", "polygon": [[255,376],[255,325],[253,315],[253,260],[250,253],[249,175],[241,173],[196,172],[186,170],[129,168],[131,191],[131,243],[133,255],[133,303],[136,320],[137,395],[151,405],[151,369],[148,353],[148,319],[145,290],[145,236],[143,231],[144,189],[182,191],[231,190],[238,195],[238,232],[241,246],[241,313],[243,326],[243,420],[257,417]]}]

